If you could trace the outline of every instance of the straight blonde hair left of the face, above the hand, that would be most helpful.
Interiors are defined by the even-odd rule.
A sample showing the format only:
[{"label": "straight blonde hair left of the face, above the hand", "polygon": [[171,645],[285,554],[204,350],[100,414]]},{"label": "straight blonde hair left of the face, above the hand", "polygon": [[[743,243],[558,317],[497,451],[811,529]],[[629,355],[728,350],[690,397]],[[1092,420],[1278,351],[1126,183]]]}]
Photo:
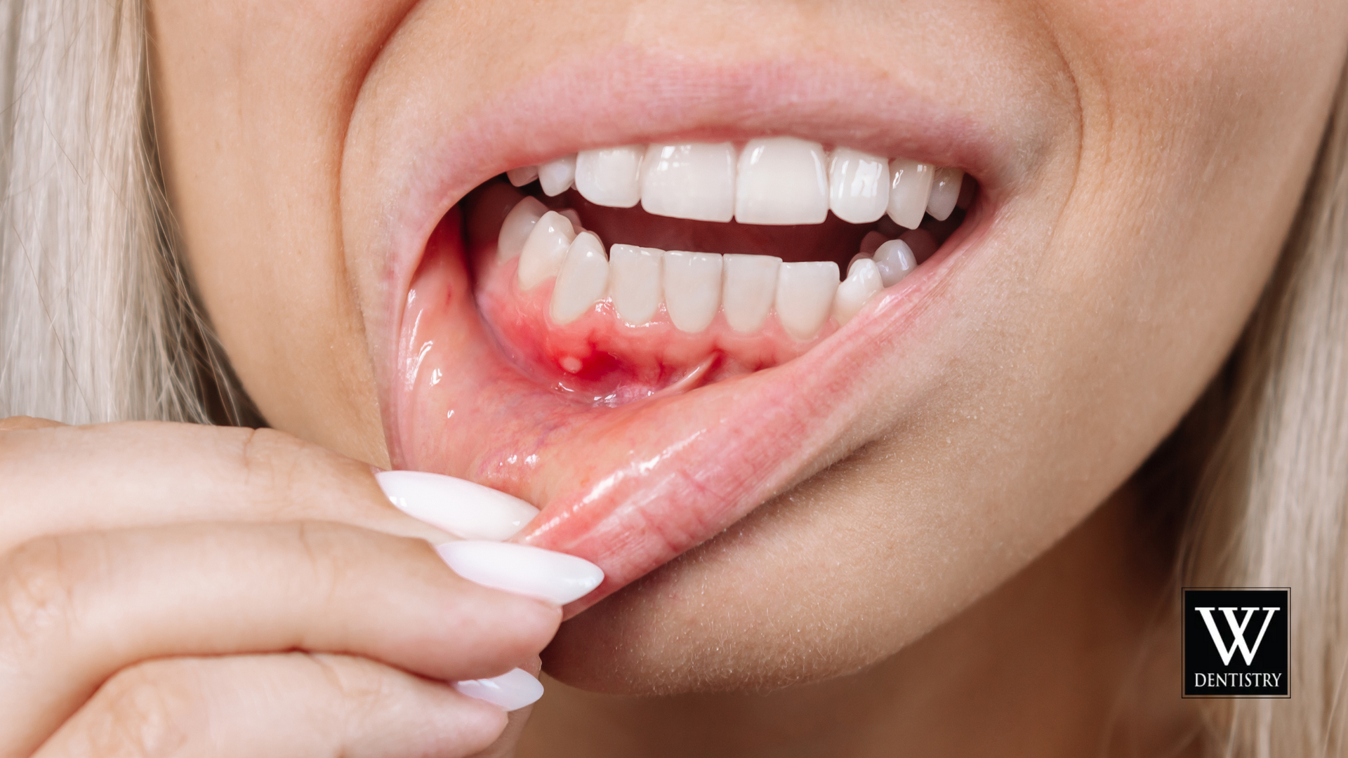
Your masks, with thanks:
[{"label": "straight blonde hair left of the face, above the hand", "polygon": [[201,421],[143,5],[4,0],[0,415]]}]

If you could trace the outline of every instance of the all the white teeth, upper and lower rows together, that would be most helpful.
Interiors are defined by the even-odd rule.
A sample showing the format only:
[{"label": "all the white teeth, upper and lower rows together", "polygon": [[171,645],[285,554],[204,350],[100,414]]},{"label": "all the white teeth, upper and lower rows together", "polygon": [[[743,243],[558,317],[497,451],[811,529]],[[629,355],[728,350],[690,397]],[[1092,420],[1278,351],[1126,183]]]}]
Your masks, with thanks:
[{"label": "all the white teeth, upper and lower rows together", "polygon": [[739,150],[728,142],[586,150],[512,169],[507,177],[516,186],[538,178],[547,196],[574,186],[597,205],[640,202],[647,213],[698,221],[818,224],[832,210],[853,224],[887,213],[913,229],[900,239],[867,233],[840,282],[833,262],[783,263],[770,255],[630,244],[615,244],[605,255],[574,210],[549,210],[532,197],[519,201],[501,224],[497,259],[519,256],[520,289],[555,278],[549,309],[555,324],[569,324],[609,298],[632,325],[651,322],[665,303],[670,322],[683,332],[702,332],[723,312],[732,330],[752,333],[775,312],[797,340],[817,336],[829,317],[847,324],[876,293],[913,271],[919,256],[930,255],[934,241],[917,227],[925,213],[949,217],[964,179],[956,169],[847,147],[828,152],[817,142],[785,136],[754,139]]}]

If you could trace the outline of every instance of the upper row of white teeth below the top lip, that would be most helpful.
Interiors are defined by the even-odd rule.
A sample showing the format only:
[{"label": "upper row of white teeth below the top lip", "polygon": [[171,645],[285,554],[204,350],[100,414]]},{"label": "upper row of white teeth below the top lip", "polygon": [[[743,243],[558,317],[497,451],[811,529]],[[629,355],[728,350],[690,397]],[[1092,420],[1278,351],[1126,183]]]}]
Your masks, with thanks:
[{"label": "upper row of white teeth below the top lip", "polygon": [[647,213],[741,224],[820,224],[828,212],[869,224],[886,213],[914,229],[923,213],[944,221],[964,173],[848,147],[825,151],[793,136],[732,143],[652,143],[584,150],[539,166],[511,169],[523,186],[537,177],[547,196],[572,186],[611,208],[638,202]]}]

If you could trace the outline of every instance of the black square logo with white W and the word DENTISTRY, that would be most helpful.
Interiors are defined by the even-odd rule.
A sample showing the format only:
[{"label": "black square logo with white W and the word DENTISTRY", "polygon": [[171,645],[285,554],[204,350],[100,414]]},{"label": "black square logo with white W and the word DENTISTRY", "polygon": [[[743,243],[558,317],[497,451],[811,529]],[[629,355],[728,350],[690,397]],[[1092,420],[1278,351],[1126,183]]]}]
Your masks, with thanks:
[{"label": "black square logo with white W and the word DENTISTRY", "polygon": [[1286,587],[1184,588],[1184,697],[1290,697]]}]

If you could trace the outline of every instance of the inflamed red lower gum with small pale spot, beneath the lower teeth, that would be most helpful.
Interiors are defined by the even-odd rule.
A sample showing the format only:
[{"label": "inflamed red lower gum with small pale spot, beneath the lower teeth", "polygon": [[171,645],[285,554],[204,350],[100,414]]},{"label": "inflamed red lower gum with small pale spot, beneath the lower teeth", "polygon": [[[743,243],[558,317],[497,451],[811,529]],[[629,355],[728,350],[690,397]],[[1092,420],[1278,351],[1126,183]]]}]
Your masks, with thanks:
[{"label": "inflamed red lower gum with small pale spot, beneath the lower teeth", "polygon": [[596,405],[621,405],[780,366],[837,330],[829,318],[814,339],[802,341],[770,314],[759,332],[741,334],[717,312],[705,330],[687,333],[674,326],[663,305],[650,324],[631,325],[608,298],[559,325],[549,314],[553,279],[520,291],[519,259],[497,263],[491,243],[479,247],[473,260],[479,308],[503,352],[526,375]]}]

